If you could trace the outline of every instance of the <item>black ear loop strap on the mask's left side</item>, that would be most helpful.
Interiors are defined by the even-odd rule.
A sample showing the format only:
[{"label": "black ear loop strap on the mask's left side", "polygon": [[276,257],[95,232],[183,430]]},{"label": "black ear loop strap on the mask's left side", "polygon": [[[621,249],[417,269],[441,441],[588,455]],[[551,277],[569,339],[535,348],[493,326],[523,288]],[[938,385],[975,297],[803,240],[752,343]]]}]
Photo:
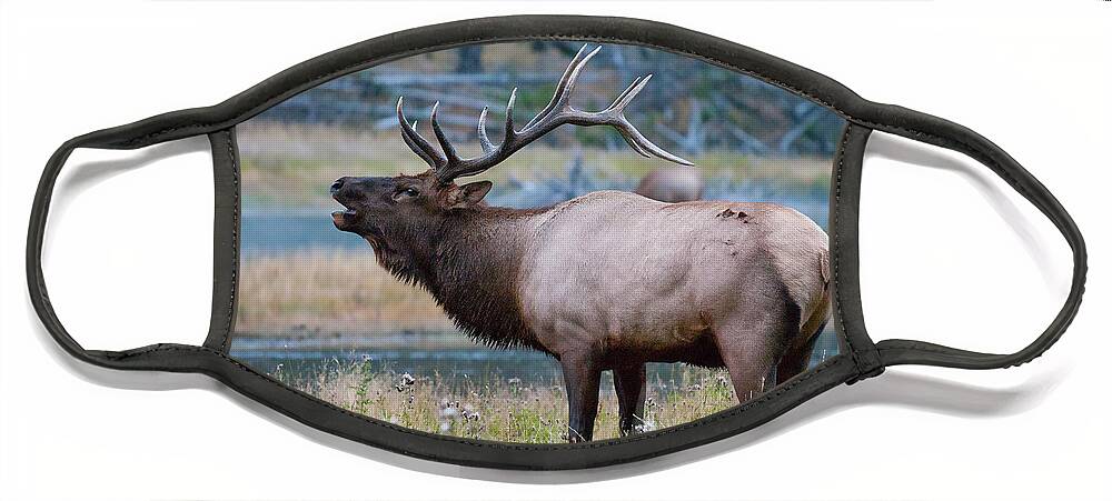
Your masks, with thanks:
[{"label": "black ear loop strap on the mask's left side", "polygon": [[[73,152],[73,150],[78,148],[132,150],[171,140],[199,136],[201,133],[214,132],[210,134],[209,139],[214,147],[214,159],[217,162],[217,176],[219,177],[222,157],[218,156],[215,149],[218,144],[228,144],[228,141],[234,141],[234,139],[230,139],[229,137],[221,136],[230,134],[230,131],[214,130],[216,127],[208,124],[181,124],[180,120],[175,118],[175,114],[180,117],[181,114],[199,110],[200,109],[185,110],[181,112],[158,116],[136,123],[90,132],[88,134],[70,139],[59,147],[58,150],[50,157],[50,160],[47,161],[47,166],[41,178],[39,179],[39,186],[36,190],[34,200],[31,206],[31,218],[27,233],[27,284],[30,291],[31,304],[34,308],[36,313],[38,313],[39,318],[42,320],[47,331],[54,338],[58,344],[72,357],[89,363],[113,369],[161,370],[172,372],[203,371],[205,367],[202,365],[211,363],[210,359],[212,359],[212,357],[208,357],[208,354],[211,353],[202,352],[216,351],[209,347],[210,342],[215,338],[212,332],[209,333],[205,347],[158,343],[125,351],[86,349],[77,342],[72,335],[70,335],[64,325],[62,325],[61,321],[58,319],[53,304],[50,302],[50,297],[47,293],[46,279],[42,272],[42,243],[46,234],[48,212],[50,210],[50,200],[53,196],[54,183],[58,180],[58,174],[61,172],[62,167],[66,164],[66,160],[69,159],[69,156]],[[173,123],[177,123],[177,126],[173,126]],[[219,211],[220,208],[218,207],[217,209]],[[221,223],[219,218],[217,219],[217,224],[220,226]]]}]

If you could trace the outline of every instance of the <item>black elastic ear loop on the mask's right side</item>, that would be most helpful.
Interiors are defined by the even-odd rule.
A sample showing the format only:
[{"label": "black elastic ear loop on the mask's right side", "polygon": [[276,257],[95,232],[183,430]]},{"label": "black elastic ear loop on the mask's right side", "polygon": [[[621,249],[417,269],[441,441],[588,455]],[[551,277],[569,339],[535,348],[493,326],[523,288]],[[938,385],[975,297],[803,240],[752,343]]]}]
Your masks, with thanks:
[{"label": "black elastic ear loop on the mask's right side", "polygon": [[[897,107],[887,108],[896,109]],[[1059,203],[1058,199],[1000,147],[956,123],[935,117],[924,117],[923,120],[930,122],[924,129],[937,131],[940,136],[880,123],[864,124],[876,130],[959,151],[991,169],[1058,227],[1073,250],[1073,279],[1070,294],[1061,311],[1037,339],[1020,351],[1009,354],[982,353],[926,341],[886,339],[876,343],[875,349],[880,357],[880,363],[881,365],[922,364],[959,369],[1004,369],[1030,362],[1053,345],[1078,314],[1088,271],[1085,241],[1078,226],[1073,222],[1073,218]]]}]

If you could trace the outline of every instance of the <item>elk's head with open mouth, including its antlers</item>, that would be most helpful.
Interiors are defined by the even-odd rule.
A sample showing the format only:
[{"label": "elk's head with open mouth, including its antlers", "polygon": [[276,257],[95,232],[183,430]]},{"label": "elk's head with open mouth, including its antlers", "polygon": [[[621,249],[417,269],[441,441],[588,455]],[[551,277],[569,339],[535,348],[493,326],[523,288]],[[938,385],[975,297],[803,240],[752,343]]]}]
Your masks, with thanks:
[{"label": "elk's head with open mouth, including its antlers", "polygon": [[331,186],[332,198],[347,209],[332,213],[336,228],[364,237],[376,251],[395,248],[395,251],[404,254],[416,252],[417,249],[396,247],[413,246],[411,239],[417,238],[416,233],[428,234],[426,230],[437,227],[453,214],[481,206],[483,198],[490,191],[489,181],[457,186],[455,183],[457,178],[474,176],[498,164],[526,144],[565,123],[613,127],[634,151],[642,156],[691,166],[687,160],[653,144],[624,114],[629,102],[648,84],[652,74],[638,77],[602,111],[588,112],[570,106],[569,99],[579,73],[602,47],[590,52],[586,49],[587,46],[579,49],[564,70],[564,76],[556,84],[555,94],[548,104],[522,129],[516,129],[514,124],[514,101],[517,98],[517,89],[510,92],[509,102],[506,104],[505,137],[500,144],[494,144],[487,137],[487,109],[484,108],[478,119],[478,138],[483,146],[483,154],[475,158],[460,158],[448,142],[436,118],[439,103],[433,106],[429,117],[433,133],[440,144],[440,149],[437,150],[417,132],[416,121],[409,123],[406,120],[403,112],[404,98],[398,98],[397,113],[401,126],[401,139],[428,163],[429,170],[417,176],[345,177],[336,180]]}]

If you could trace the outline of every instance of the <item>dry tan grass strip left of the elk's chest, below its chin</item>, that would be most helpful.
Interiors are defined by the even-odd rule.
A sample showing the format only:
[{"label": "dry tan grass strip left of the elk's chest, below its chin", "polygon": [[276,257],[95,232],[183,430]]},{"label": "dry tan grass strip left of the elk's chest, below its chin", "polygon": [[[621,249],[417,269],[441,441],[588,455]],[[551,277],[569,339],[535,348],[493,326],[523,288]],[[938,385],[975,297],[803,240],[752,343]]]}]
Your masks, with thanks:
[{"label": "dry tan grass strip left of the elk's chest, below its chin", "polygon": [[307,250],[240,263],[239,333],[454,330],[423,289],[399,282],[371,252]]}]

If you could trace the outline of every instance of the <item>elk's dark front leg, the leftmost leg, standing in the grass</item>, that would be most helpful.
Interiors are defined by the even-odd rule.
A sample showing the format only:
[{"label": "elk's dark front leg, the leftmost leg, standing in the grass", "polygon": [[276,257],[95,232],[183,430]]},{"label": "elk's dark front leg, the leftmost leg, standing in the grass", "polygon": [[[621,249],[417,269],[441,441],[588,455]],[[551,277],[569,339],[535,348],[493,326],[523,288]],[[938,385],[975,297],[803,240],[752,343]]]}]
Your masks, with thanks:
[{"label": "elk's dark front leg, the leftmost leg, standing in the grass", "polygon": [[598,414],[598,358],[593,353],[560,357],[564,388],[567,390],[567,440],[572,443],[590,441]]}]

